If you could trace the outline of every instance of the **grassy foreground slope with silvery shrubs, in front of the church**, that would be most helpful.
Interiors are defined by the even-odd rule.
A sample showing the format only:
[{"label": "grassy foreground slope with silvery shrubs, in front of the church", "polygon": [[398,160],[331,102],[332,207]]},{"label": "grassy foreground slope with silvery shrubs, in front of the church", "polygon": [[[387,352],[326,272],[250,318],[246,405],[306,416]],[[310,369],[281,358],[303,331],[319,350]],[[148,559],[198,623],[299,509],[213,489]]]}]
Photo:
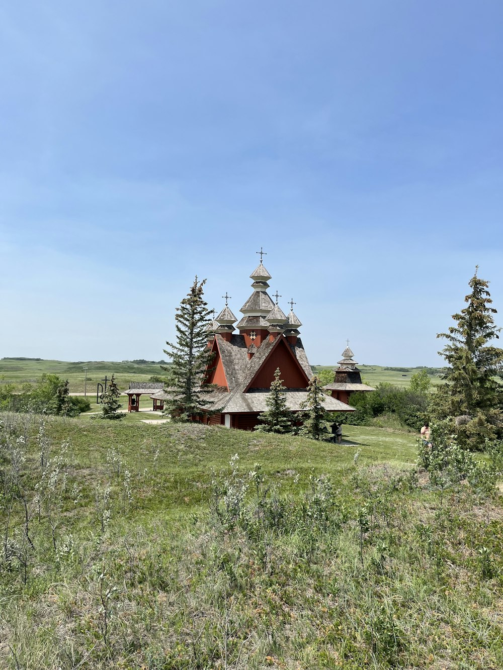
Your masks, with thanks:
[{"label": "grassy foreground slope with silvery shrubs, in front of the church", "polygon": [[1,415],[1,669],[503,667],[497,494],[398,431],[140,415]]}]

